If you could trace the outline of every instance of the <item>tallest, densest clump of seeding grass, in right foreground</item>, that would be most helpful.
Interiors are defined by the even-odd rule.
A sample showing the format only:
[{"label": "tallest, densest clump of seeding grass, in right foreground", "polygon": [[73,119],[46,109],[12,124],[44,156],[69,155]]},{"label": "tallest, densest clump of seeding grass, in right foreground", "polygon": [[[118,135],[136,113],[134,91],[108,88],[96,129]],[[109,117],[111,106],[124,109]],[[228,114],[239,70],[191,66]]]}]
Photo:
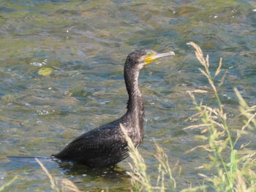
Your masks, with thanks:
[{"label": "tallest, densest clump of seeding grass, in right foreground", "polygon": [[219,99],[218,93],[218,89],[224,82],[225,74],[227,73],[225,72],[221,77],[221,82],[219,82],[218,86],[214,82],[214,78],[221,72],[222,59],[220,59],[219,67],[213,76],[209,70],[208,55],[204,58],[202,50],[194,42],[189,42],[187,45],[195,48],[197,60],[203,66],[203,69],[199,70],[207,78],[217,100],[217,107],[209,107],[203,104],[202,101],[198,102],[195,97],[195,93],[206,93],[206,91],[188,91],[197,110],[194,118],[200,119],[202,124],[189,126],[187,129],[202,128],[200,139],[208,141],[206,145],[197,146],[190,150],[190,152],[199,147],[206,150],[210,163],[203,164],[200,168],[206,169],[209,173],[213,174],[200,175],[208,181],[211,188],[214,188],[215,191],[255,191],[256,153],[255,150],[246,149],[246,145],[249,145],[249,143],[238,145],[238,140],[242,138],[242,135],[249,134],[249,130],[255,128],[256,106],[249,107],[235,88],[241,115],[246,120],[244,120],[244,126],[240,129],[233,129],[228,126],[225,106]]}]

